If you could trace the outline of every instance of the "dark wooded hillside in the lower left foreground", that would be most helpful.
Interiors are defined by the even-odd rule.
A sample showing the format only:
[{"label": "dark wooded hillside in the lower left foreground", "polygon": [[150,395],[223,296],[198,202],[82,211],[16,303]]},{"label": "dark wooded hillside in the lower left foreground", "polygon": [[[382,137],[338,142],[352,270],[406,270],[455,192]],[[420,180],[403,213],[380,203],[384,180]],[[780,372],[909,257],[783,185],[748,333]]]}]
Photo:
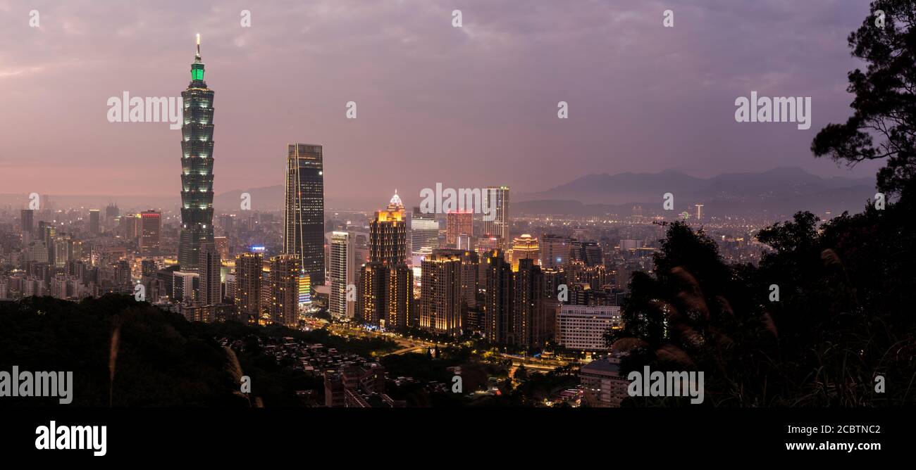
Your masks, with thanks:
[{"label": "dark wooded hillside in the lower left foreground", "polygon": [[[115,329],[118,339],[112,356]],[[290,336],[368,358],[397,346],[386,339],[333,336],[283,326],[202,324],[129,295],[80,303],[30,297],[0,304],[0,370],[73,371],[73,406],[302,406],[298,390],[322,402],[323,379],[278,362],[261,347]],[[229,352],[216,338],[242,339]],[[237,362],[234,362],[237,361]],[[235,368],[237,365],[237,369]],[[114,380],[111,369],[114,369]],[[251,379],[240,393],[237,376]],[[7,405],[57,404],[56,398],[5,398]]]}]

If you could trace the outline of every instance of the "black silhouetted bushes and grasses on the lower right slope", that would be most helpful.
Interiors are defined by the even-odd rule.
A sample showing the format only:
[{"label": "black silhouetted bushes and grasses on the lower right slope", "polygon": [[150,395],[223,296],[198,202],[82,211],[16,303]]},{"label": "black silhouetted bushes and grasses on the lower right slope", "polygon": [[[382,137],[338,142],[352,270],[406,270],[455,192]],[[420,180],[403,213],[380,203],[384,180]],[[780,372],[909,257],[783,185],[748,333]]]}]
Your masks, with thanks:
[{"label": "black silhouetted bushes and grasses on the lower right slope", "polygon": [[608,339],[631,353],[627,370],[702,370],[717,406],[916,403],[913,199],[820,227],[800,212],[759,233],[775,251],[757,268],[726,265],[702,231],[676,223]]}]

